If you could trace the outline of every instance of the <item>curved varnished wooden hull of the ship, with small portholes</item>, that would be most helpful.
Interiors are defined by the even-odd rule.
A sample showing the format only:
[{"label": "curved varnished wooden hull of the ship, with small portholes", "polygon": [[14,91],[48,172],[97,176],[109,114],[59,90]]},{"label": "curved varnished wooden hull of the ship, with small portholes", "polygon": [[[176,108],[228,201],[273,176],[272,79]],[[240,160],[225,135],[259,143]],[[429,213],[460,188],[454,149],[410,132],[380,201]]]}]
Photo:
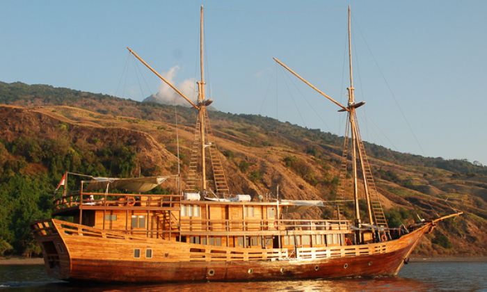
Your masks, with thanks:
[{"label": "curved varnished wooden hull of the ship, with small portholes", "polygon": [[[35,227],[48,225],[37,228],[41,232],[35,231]],[[287,257],[285,252],[276,257],[264,253],[262,257],[267,259],[255,260],[253,255],[261,257],[262,250],[136,238],[61,220],[43,220],[31,226],[42,246],[49,275],[67,281],[92,282],[247,282],[394,276],[423,234],[432,228],[425,225],[385,243],[309,249],[308,253],[303,249],[298,254],[305,257],[298,258]],[[134,258],[134,249],[141,251],[141,257]],[[151,250],[150,258],[144,258],[145,250]]]}]

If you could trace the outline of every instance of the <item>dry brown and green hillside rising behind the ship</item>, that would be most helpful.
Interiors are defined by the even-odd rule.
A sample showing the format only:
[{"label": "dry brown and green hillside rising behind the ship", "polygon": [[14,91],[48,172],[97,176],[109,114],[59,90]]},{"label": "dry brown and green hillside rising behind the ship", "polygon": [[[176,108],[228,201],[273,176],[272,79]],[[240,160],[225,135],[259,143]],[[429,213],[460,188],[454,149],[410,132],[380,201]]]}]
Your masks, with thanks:
[{"label": "dry brown and green hillside rising behind the ship", "polygon": [[[183,177],[187,171],[196,122],[191,108],[24,83],[0,83],[0,104],[0,252],[8,245],[17,253],[35,250],[27,224],[50,216],[52,191],[66,170],[176,174],[175,111]],[[285,199],[334,199],[342,138],[258,115],[209,115],[232,193],[275,196],[279,184]],[[487,168],[365,147],[391,227],[465,211],[426,236],[417,252],[487,255],[479,244],[487,239]],[[177,193],[175,181],[159,191]]]}]

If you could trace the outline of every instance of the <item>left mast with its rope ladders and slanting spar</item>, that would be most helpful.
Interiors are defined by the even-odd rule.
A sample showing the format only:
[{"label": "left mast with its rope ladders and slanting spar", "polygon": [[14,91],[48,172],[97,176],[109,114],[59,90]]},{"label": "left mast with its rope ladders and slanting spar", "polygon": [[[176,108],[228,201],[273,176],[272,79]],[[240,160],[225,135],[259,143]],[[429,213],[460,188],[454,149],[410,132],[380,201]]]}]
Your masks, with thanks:
[{"label": "left mast with its rope ladders and slanting spar", "polygon": [[200,190],[203,193],[207,193],[209,190],[207,186],[207,177],[206,177],[206,159],[205,159],[205,149],[209,149],[209,157],[211,161],[211,167],[213,170],[214,176],[214,184],[215,184],[215,192],[218,196],[224,197],[225,195],[229,195],[229,188],[227,184],[227,179],[225,177],[225,172],[223,170],[223,165],[221,164],[220,155],[218,149],[216,148],[216,143],[213,135],[213,131],[211,130],[211,126],[209,124],[209,117],[207,113],[207,106],[209,106],[213,99],[205,99],[205,75],[204,75],[204,66],[203,66],[203,6],[201,6],[201,21],[200,21],[200,70],[201,70],[201,79],[198,81],[198,102],[195,104],[191,101],[188,97],[186,97],[181,91],[179,91],[173,84],[171,84],[168,80],[166,80],[161,74],[156,72],[150,65],[145,63],[145,61],[139,57],[137,54],[134,53],[131,49],[127,47],[127,49],[134,54],[138,60],[140,60],[147,68],[149,68],[154,74],[159,76],[159,78],[164,81],[165,83],[173,88],[179,95],[181,95],[184,99],[186,99],[191,106],[198,110],[198,119],[196,122],[195,127],[195,136],[193,141],[193,146],[191,149],[191,158],[189,163],[189,172],[186,178],[186,192],[195,192],[198,190],[197,181],[198,181],[198,164],[200,165]]}]

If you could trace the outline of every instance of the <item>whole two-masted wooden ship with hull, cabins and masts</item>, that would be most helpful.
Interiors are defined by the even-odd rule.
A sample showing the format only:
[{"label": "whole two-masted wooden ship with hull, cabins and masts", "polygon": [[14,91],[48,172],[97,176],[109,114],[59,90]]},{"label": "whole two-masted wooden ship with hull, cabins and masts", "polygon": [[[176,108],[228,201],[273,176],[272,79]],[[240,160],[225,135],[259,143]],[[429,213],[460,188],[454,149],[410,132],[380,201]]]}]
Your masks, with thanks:
[{"label": "whole two-masted wooden ship with hull, cabins and masts", "polygon": [[[284,220],[285,211],[323,205],[323,202],[279,199],[260,202],[250,200],[248,195],[230,197],[209,127],[206,106],[211,99],[205,100],[201,70],[196,104],[170,85],[198,109],[194,155],[185,190],[176,195],[143,194],[171,177],[89,177],[79,181],[79,190],[67,192],[64,188],[61,197],[54,198],[54,218],[30,225],[42,248],[47,272],[67,281],[93,282],[261,281],[397,275],[424,234],[432,232],[439,221],[461,213],[422,220],[400,229],[388,227],[358,129],[356,108],[363,103],[355,103],[350,80],[348,106],[325,96],[348,115],[340,179],[346,181],[347,161],[352,164],[352,179],[340,183],[337,203],[342,205],[346,201],[344,193],[351,186],[355,220],[343,218],[343,205],[337,208],[335,219]],[[209,190],[205,178],[206,148],[213,167],[214,197],[205,196]],[[196,192],[198,172],[200,193],[204,197]],[[363,179],[360,184],[359,177]],[[359,187],[365,188],[367,223],[360,218]],[[100,189],[104,193],[95,193],[94,190]],[[134,193],[109,193],[110,189]],[[72,222],[56,217],[69,217]]]}]

